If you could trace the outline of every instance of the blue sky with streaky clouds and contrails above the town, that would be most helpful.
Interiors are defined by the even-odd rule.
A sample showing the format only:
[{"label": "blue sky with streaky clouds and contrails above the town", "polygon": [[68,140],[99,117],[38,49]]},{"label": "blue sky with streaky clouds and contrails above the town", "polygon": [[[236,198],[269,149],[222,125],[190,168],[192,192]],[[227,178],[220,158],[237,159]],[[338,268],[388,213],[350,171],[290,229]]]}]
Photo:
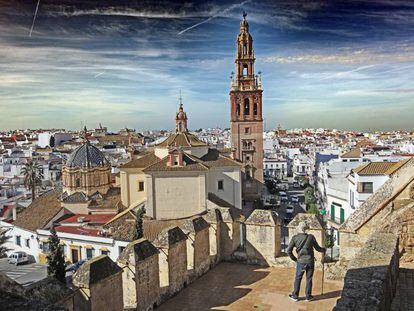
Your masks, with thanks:
[{"label": "blue sky with streaky clouds and contrails above the town", "polygon": [[414,1],[37,3],[0,0],[0,130],[172,129],[180,90],[229,127],[243,11],[268,130],[414,129]]}]

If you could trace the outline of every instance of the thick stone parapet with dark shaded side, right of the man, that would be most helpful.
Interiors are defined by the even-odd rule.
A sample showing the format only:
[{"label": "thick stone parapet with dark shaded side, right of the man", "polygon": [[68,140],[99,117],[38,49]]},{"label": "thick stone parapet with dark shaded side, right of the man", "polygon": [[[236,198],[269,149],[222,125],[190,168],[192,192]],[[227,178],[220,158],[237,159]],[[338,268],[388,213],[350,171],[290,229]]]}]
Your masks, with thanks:
[{"label": "thick stone parapet with dark shaded side, right of the man", "polygon": [[377,232],[349,263],[334,310],[390,310],[398,271],[397,235]]}]

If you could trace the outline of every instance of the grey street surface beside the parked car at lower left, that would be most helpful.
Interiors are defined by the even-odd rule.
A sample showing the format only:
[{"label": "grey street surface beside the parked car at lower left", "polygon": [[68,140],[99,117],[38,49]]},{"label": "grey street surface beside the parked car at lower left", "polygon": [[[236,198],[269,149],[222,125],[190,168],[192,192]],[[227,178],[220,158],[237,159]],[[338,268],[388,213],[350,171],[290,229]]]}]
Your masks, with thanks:
[{"label": "grey street surface beside the parked car at lower left", "polygon": [[43,280],[47,276],[46,265],[30,263],[15,266],[9,264],[7,258],[0,259],[0,271],[24,287]]}]

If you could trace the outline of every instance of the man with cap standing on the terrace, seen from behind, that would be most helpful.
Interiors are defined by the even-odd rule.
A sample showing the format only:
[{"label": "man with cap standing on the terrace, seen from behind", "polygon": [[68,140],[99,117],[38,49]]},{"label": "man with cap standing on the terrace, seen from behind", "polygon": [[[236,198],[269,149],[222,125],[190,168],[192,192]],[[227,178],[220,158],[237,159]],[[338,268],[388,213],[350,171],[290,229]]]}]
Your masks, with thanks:
[{"label": "man with cap standing on the terrace, seen from behind", "polygon": [[[315,267],[315,256],[313,254],[313,249],[315,248],[318,252],[324,253],[325,248],[320,247],[318,242],[316,242],[315,237],[312,234],[307,234],[306,231],[309,229],[309,226],[306,222],[299,223],[298,231],[299,233],[294,235],[290,240],[289,246],[287,248],[287,253],[289,257],[297,262],[296,265],[296,276],[294,289],[292,294],[289,294],[290,299],[298,301],[299,299],[299,290],[300,283],[302,281],[302,276],[306,272],[306,301],[312,301],[312,277],[313,270]],[[293,255],[293,248],[296,248],[296,253],[298,258]]]}]

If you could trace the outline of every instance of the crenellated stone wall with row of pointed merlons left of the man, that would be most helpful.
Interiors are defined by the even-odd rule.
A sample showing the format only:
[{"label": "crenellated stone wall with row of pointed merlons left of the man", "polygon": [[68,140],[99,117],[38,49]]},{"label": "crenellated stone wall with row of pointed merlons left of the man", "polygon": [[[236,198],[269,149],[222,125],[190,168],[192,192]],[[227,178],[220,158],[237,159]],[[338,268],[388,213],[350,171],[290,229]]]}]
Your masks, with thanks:
[{"label": "crenellated stone wall with row of pointed merlons left of the man", "polygon": [[[117,269],[104,260],[107,256],[88,261],[74,276],[79,288],[75,309],[105,309],[113,304],[115,293],[122,301],[116,301],[111,310],[152,310],[221,260],[233,260],[236,250],[244,252],[240,247],[242,226],[246,227],[246,263],[273,264],[281,248],[277,215],[255,210],[242,221],[240,212],[216,208],[180,227],[161,231],[152,242],[131,242],[120,255]],[[97,265],[96,260],[105,264]],[[101,269],[103,274],[97,277]]]}]

